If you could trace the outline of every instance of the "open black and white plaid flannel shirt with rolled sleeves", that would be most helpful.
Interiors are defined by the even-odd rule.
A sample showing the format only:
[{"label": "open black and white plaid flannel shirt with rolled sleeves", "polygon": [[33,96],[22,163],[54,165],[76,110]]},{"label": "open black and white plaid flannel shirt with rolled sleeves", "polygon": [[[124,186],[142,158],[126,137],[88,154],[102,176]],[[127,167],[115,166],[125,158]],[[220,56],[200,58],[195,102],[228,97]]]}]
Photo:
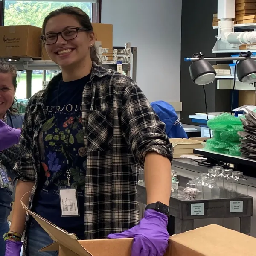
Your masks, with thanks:
[{"label": "open black and white plaid flannel shirt with rolled sleeves", "polygon": [[[56,86],[60,80],[61,74],[55,76],[45,90],[32,96],[25,113],[20,138],[22,156],[15,171],[20,180],[35,182],[29,209],[41,169],[38,134],[46,119],[45,99],[49,87]],[[128,76],[93,63],[90,81],[82,93],[81,108],[87,149],[84,232],[87,239],[101,239],[139,223],[139,166],[143,166],[148,152],[157,152],[172,161],[173,149],[165,125]],[[28,220],[29,216],[23,255],[28,255]]]}]

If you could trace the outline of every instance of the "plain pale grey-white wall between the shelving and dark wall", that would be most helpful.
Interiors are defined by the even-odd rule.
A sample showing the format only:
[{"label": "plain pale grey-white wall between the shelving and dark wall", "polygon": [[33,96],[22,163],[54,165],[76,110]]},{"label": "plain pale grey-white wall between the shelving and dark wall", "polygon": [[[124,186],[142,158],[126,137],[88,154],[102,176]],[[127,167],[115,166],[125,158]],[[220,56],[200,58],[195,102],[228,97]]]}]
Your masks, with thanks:
[{"label": "plain pale grey-white wall between the shelving and dark wall", "polygon": [[150,102],[180,102],[181,0],[102,0],[113,45],[138,47],[137,84]]}]

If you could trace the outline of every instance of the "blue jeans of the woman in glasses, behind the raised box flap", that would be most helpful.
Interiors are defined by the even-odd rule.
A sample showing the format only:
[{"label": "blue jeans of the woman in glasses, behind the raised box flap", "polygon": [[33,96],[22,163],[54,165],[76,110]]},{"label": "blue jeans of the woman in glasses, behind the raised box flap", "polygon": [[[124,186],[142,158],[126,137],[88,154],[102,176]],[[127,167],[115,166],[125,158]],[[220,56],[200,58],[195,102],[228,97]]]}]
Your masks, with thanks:
[{"label": "blue jeans of the woman in glasses, behind the raised box flap", "polygon": [[38,250],[52,244],[54,241],[51,237],[36,223],[32,220],[27,231],[28,237],[28,254],[29,256],[58,256],[58,252],[38,252]]}]

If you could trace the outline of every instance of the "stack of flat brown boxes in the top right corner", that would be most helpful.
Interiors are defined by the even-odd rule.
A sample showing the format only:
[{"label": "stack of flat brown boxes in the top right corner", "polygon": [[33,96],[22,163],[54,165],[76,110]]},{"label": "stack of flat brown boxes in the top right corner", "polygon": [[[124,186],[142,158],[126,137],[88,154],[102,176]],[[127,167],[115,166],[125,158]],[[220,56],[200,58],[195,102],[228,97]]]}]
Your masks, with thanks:
[{"label": "stack of flat brown boxes in the top right corner", "polygon": [[[236,0],[235,20],[238,24],[253,23],[254,18],[244,19],[252,15],[256,15],[256,0]],[[244,22],[244,20],[250,20],[250,22]]]}]

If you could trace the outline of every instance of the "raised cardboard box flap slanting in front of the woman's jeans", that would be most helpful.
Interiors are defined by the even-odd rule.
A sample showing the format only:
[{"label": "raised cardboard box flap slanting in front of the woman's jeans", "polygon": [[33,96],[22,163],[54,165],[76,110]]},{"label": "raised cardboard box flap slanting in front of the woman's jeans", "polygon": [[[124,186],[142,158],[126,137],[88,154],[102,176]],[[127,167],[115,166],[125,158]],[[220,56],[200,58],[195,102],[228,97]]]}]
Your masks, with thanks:
[{"label": "raised cardboard box flap slanting in front of the woman's jeans", "polygon": [[38,222],[38,224],[48,233],[52,240],[57,241],[58,244],[64,245],[67,249],[81,256],[92,256],[79,242],[74,234],[55,226],[51,222],[42,218],[34,212],[31,212],[28,207],[20,200],[22,207]]}]

